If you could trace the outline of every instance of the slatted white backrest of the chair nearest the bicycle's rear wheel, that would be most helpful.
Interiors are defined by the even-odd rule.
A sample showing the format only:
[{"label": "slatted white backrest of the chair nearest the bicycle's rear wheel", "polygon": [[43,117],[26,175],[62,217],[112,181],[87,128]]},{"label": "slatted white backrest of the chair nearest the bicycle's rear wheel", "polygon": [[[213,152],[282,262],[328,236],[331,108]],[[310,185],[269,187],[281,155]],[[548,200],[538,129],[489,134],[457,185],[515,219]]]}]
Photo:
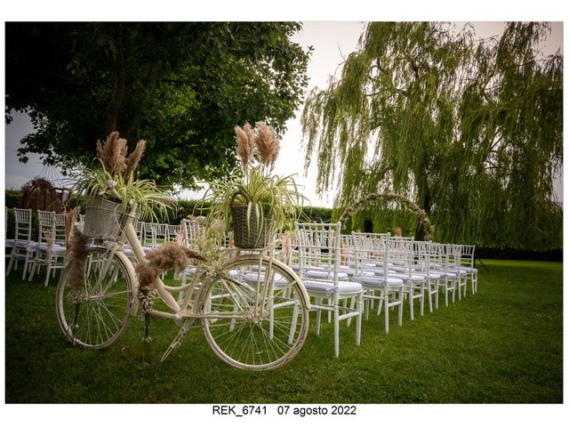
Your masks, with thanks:
[{"label": "slatted white backrest of the chair nearest the bicycle's rear wheel", "polygon": [[341,266],[341,222],[297,222],[295,228],[301,278],[307,270],[324,269],[332,271],[329,280],[337,287]]}]

